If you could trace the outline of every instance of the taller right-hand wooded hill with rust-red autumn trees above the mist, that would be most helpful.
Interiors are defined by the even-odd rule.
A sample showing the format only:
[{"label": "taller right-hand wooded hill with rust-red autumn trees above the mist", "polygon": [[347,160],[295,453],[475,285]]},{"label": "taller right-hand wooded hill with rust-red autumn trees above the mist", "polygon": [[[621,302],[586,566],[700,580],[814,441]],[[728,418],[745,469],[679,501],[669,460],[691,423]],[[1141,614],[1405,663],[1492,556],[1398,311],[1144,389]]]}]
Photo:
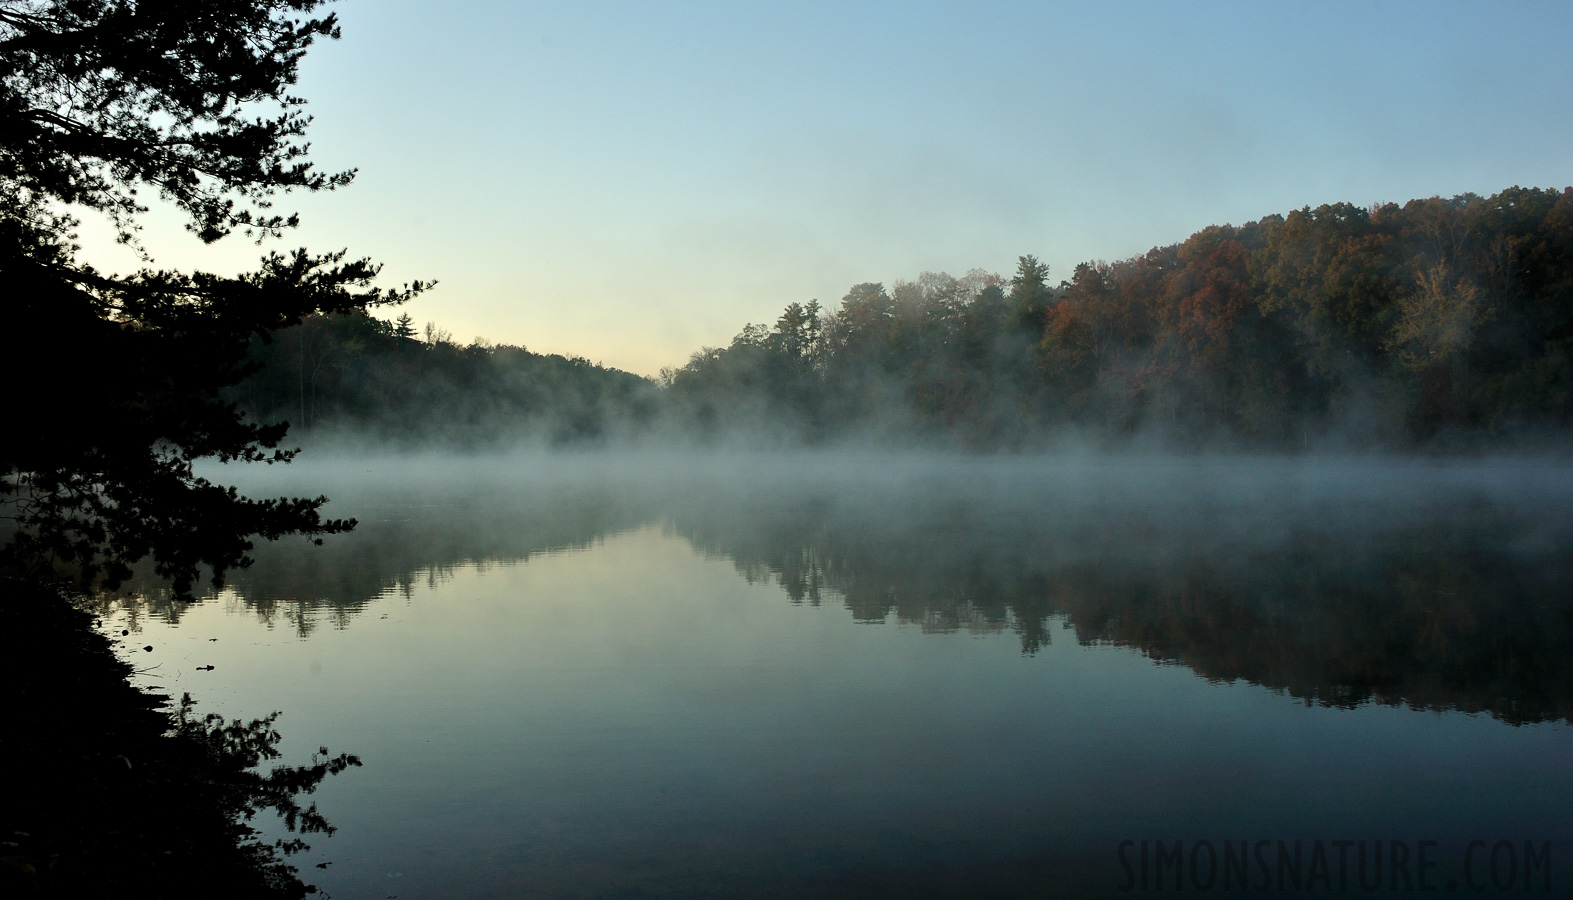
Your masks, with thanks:
[{"label": "taller right-hand wooded hill with rust-red autumn trees above the mist", "polygon": [[698,428],[1260,448],[1521,436],[1573,415],[1573,189],[1218,225],[1051,285],[925,272],[786,307],[662,373]]}]

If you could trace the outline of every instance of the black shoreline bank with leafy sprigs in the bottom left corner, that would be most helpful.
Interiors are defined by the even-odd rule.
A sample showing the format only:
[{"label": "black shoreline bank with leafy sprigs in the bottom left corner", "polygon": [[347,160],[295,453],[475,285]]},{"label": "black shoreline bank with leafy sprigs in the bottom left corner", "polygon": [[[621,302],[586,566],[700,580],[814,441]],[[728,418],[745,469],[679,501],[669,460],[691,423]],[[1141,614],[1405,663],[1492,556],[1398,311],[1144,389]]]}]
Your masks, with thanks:
[{"label": "black shoreline bank with leafy sprigs in the bottom left corner", "polygon": [[[9,714],[0,766],[0,894],[6,897],[297,898],[315,892],[247,824],[294,806],[352,757],[275,768],[269,719],[223,724],[131,684],[93,614],[47,587],[0,581]],[[189,713],[189,710],[187,710]],[[280,806],[283,804],[283,806]]]}]

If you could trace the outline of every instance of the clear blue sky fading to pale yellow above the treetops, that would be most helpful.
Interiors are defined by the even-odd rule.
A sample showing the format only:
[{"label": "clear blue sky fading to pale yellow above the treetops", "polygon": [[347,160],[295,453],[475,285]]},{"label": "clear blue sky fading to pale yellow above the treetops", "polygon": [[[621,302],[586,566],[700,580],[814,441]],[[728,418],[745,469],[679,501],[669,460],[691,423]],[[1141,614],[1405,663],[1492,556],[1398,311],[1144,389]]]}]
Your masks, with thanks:
[{"label": "clear blue sky fading to pale yellow above the treetops", "polygon": [[330,9],[296,93],[354,184],[286,197],[304,223],[263,247],[154,209],[154,263],[349,249],[439,282],[417,324],[640,374],[860,282],[1024,253],[1059,282],[1302,206],[1573,184],[1565,2]]}]

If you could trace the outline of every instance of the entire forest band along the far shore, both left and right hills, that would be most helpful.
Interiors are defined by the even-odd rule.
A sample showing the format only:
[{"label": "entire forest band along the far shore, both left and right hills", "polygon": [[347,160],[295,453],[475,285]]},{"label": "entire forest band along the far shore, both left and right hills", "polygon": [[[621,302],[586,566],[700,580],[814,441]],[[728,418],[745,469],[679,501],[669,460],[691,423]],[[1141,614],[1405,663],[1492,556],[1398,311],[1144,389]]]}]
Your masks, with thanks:
[{"label": "entire forest band along the far shore, both left and right hills", "polygon": [[1573,417],[1573,189],[1218,225],[1051,283],[1022,256],[791,304],[661,385],[428,326],[308,321],[256,348],[263,419],[551,442],[683,434],[1027,447],[1447,447]]}]

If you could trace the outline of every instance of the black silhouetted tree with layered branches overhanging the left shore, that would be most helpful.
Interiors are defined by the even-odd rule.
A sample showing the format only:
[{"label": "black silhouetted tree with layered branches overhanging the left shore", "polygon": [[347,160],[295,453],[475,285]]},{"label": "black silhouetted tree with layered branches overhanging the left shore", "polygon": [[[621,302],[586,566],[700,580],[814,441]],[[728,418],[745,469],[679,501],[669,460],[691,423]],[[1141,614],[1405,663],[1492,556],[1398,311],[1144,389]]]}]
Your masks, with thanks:
[{"label": "black silhouetted tree with layered branches overhanging the left shore", "polygon": [[[0,3],[0,283],[31,354],[5,354],[3,562],[113,584],[153,557],[189,590],[245,565],[252,537],[324,535],[318,499],[249,500],[195,475],[200,458],[288,461],[286,425],[245,420],[222,390],[249,343],[313,313],[395,304],[415,283],[371,286],[343,252],[269,253],[239,277],[80,263],[61,205],[105,214],[135,245],[142,192],[203,241],[278,234],[280,192],[330,190],[352,172],[311,168],[305,101],[288,93],[315,38],[318,0]],[[272,110],[272,112],[269,112]]]}]

